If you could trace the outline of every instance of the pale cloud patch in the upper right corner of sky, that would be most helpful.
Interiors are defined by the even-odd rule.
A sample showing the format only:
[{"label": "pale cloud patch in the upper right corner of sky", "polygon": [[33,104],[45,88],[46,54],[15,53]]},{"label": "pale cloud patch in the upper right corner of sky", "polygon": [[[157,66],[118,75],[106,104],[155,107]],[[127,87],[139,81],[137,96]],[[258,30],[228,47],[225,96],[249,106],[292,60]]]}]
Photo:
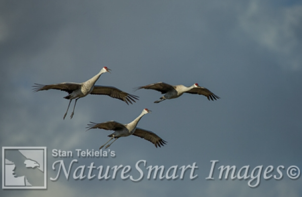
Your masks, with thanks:
[{"label": "pale cloud patch in the upper right corner of sky", "polygon": [[301,69],[301,36],[298,31],[302,22],[302,5],[271,6],[258,0],[251,1],[239,15],[239,26],[256,42],[281,55],[285,67]]}]

